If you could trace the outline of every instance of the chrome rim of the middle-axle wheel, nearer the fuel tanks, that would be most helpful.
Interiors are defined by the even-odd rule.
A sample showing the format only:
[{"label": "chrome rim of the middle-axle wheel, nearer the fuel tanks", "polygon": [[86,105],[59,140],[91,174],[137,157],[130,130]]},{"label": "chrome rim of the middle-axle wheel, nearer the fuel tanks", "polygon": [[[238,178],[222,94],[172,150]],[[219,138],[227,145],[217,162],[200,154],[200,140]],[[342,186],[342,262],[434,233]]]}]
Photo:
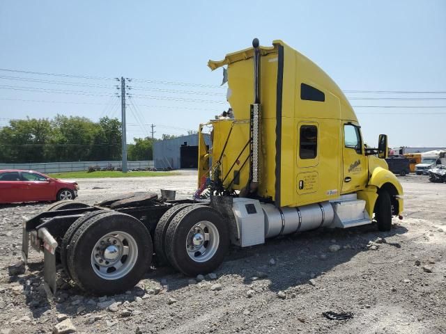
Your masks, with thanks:
[{"label": "chrome rim of the middle-axle wheel, nearer the fuel tanks", "polygon": [[194,262],[206,262],[217,253],[220,234],[210,221],[200,221],[187,233],[186,251]]}]

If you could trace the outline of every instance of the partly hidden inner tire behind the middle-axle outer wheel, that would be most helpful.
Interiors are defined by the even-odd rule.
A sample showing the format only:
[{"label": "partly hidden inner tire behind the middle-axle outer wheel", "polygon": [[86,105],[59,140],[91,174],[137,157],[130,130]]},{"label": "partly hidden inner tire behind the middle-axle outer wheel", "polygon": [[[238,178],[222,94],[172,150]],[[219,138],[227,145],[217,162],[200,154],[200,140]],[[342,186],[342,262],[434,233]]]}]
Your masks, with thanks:
[{"label": "partly hidden inner tire behind the middle-axle outer wheel", "polygon": [[155,235],[153,237],[153,244],[155,246],[156,263],[160,267],[170,263],[165,250],[167,228],[169,228],[169,224],[171,223],[172,219],[174,219],[174,216],[176,216],[176,214],[178,214],[178,212],[180,212],[182,209],[184,209],[185,207],[189,207],[190,205],[192,204],[187,203],[178,204],[174,207],[171,207],[167,210],[167,212],[164,212],[156,225]]}]

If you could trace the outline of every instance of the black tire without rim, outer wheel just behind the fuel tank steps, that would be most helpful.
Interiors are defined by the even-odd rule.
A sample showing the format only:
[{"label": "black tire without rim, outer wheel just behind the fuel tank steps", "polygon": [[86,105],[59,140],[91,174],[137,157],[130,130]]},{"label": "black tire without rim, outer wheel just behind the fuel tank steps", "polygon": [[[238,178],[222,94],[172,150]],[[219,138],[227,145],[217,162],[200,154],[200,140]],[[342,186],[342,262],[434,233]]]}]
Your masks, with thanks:
[{"label": "black tire without rim, outer wheel just behind the fuel tank steps", "polygon": [[[219,238],[215,254],[206,262],[196,262],[186,250],[187,235],[191,228],[201,221],[211,222],[217,229]],[[169,262],[187,276],[210,273],[217,269],[229,249],[229,229],[222,215],[212,207],[197,205],[186,207],[172,219],[167,228],[165,250]]]}]

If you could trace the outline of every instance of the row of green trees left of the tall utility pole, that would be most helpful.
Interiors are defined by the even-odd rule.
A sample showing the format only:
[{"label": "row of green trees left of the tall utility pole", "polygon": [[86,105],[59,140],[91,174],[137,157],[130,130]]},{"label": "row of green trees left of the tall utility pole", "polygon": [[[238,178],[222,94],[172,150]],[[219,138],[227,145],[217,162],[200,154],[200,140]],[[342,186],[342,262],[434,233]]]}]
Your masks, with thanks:
[{"label": "row of green trees left of the tall utility pole", "polygon": [[92,122],[58,115],[52,120],[10,120],[0,128],[0,162],[119,160],[121,138],[116,118]]}]

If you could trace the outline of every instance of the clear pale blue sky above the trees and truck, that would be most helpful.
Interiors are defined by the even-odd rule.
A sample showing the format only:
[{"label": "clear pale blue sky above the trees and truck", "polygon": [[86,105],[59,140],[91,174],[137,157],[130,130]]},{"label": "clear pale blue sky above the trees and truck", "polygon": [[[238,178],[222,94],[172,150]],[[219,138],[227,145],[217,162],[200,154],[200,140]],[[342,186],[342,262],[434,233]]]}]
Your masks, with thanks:
[{"label": "clear pale blue sky above the trees and truck", "polygon": [[[223,111],[226,90],[214,87],[222,74],[211,72],[206,63],[249,47],[254,37],[262,45],[284,40],[321,66],[343,90],[446,90],[444,0],[0,2],[1,68],[205,85],[130,82],[144,90],[130,90],[138,106],[128,110],[129,141],[150,130],[138,126],[139,120],[157,125],[155,136],[180,134]],[[0,77],[0,99],[46,101],[0,100],[0,125],[6,125],[7,118],[57,113],[93,120],[119,116],[118,97],[107,96],[116,91],[112,80],[1,71]],[[446,94],[348,97],[446,99]],[[446,106],[446,100],[351,104]],[[386,133],[392,146],[446,145],[446,108],[355,111],[368,143],[375,144],[378,134]]]}]

